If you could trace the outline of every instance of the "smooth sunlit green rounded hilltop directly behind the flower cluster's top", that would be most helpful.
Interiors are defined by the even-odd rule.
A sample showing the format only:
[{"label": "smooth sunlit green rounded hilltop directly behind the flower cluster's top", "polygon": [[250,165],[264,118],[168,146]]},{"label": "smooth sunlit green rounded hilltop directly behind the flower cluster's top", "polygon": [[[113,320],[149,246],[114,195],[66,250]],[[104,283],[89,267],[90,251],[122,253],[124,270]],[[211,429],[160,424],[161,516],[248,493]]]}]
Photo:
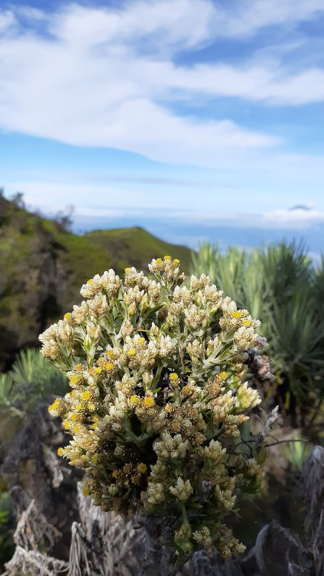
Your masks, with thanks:
[{"label": "smooth sunlit green rounded hilltop directly behind the flower cluster's top", "polygon": [[95,230],[85,234],[84,238],[107,250],[122,269],[131,265],[144,270],[152,258],[170,254],[180,260],[185,272],[189,270],[191,251],[188,248],[164,242],[138,226]]}]

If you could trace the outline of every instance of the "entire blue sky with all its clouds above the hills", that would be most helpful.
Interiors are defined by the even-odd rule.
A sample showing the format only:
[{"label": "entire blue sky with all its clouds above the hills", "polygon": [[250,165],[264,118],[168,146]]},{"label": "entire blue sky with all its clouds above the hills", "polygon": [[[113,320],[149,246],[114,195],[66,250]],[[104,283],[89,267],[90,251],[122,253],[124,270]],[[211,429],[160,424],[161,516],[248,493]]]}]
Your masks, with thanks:
[{"label": "entire blue sky with all its clouds above the hills", "polygon": [[323,29],[324,0],[0,0],[0,185],[79,231],[321,250]]}]

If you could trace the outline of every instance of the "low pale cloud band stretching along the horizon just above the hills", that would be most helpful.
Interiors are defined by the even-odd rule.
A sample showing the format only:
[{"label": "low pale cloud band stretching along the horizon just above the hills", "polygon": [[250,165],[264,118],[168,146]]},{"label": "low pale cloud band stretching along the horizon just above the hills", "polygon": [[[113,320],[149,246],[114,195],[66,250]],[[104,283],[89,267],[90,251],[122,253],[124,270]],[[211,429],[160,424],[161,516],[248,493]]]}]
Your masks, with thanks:
[{"label": "low pale cloud band stretching along the horizon just above the hills", "polygon": [[[15,182],[10,192],[23,190],[27,205],[46,214],[53,214],[67,205],[75,207],[75,217],[85,220],[129,218],[133,222],[167,220],[192,226],[232,226],[233,228],[256,228],[263,230],[306,231],[318,224],[324,225],[324,210],[314,207],[295,207],[260,211],[260,205],[241,211],[240,207],[215,205],[213,197],[200,201],[200,195],[192,194],[184,205],[183,198],[172,198],[172,191],[163,196],[151,191],[113,187],[108,185],[81,185],[55,182]],[[235,191],[224,190],[235,195]],[[219,191],[221,194],[221,191]],[[68,198],[68,202],[67,202]],[[94,224],[95,226],[95,224]]]}]

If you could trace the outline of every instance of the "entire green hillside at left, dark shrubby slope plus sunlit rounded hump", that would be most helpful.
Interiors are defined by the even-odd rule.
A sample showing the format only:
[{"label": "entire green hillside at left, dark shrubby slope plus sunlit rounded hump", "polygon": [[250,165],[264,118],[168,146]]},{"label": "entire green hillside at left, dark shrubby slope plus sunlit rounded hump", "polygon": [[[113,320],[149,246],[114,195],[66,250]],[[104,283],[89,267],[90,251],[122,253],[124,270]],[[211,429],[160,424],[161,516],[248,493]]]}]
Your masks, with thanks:
[{"label": "entire green hillside at left, dark shrubby slope plus sunlit rounded hump", "polygon": [[[170,253],[189,267],[188,248],[167,244],[141,228],[78,236],[59,220],[29,213],[0,196],[0,369],[15,354],[38,345],[38,335],[77,303],[87,278]],[[85,276],[85,274],[87,276]],[[79,296],[81,300],[81,296]]]}]

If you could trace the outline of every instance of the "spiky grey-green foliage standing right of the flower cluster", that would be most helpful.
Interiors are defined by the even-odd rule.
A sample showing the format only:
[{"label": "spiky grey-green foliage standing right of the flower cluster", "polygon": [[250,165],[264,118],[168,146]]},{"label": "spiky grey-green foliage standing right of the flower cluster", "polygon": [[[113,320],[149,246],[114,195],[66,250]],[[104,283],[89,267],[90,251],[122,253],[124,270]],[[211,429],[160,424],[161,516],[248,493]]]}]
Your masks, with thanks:
[{"label": "spiky grey-green foliage standing right of the flower cluster", "polygon": [[[192,272],[206,267],[215,283],[262,321],[284,405],[301,413],[323,398],[324,263],[312,266],[303,244],[244,252],[204,244]],[[297,404],[297,406],[296,406]],[[303,423],[303,422],[302,422]]]}]

